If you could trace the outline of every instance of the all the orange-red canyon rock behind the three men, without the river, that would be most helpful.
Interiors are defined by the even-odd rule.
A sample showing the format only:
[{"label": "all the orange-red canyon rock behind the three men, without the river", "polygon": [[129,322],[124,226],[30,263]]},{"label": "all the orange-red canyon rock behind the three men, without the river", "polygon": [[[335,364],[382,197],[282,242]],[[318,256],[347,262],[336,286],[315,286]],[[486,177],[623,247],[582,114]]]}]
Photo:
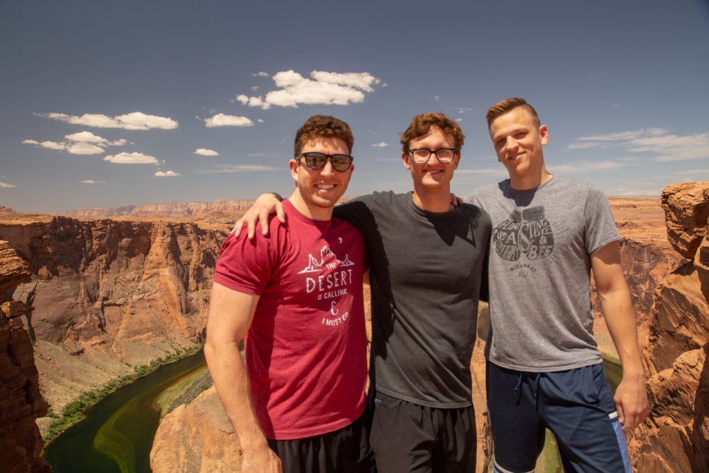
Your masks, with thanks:
[{"label": "all the orange-red canyon rock behind the three men, without the river", "polygon": [[[630,438],[633,462],[642,472],[709,470],[708,191],[706,182],[676,184],[661,199],[609,199],[623,237],[623,269],[652,401],[651,415]],[[15,408],[0,408],[0,443],[8,446],[0,452],[23,452],[22,464],[36,460],[42,471],[38,432],[51,421],[43,417],[48,405],[58,413],[83,391],[199,346],[220,243],[250,204],[155,204],[62,216],[0,206],[0,240],[16,255],[15,263],[5,265],[0,246],[0,272],[22,273],[0,286],[3,313],[10,315],[2,319],[0,343],[4,330],[25,337],[22,361],[18,349],[5,345],[7,355],[0,350],[0,363],[8,357],[25,377],[4,381],[3,387],[21,384],[20,398],[30,406],[23,407],[22,418],[11,415]],[[20,264],[25,269],[6,269]],[[601,350],[613,357],[601,316],[594,330]],[[483,347],[476,344],[471,364],[479,465],[491,453]],[[155,472],[240,471],[238,442],[213,388],[163,419],[151,465]]]}]

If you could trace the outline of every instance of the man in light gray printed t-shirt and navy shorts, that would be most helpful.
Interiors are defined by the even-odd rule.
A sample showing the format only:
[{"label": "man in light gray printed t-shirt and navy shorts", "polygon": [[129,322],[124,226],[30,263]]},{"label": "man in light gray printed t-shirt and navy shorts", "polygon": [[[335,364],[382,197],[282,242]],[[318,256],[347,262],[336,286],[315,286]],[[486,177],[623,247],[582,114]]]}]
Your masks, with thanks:
[{"label": "man in light gray printed t-shirt and navy shorts", "polygon": [[[623,430],[647,415],[635,316],[618,230],[599,189],[547,172],[547,127],[523,99],[487,113],[510,179],[466,201],[493,226],[488,408],[495,469],[529,472],[549,428],[566,471],[630,471]],[[611,394],[593,337],[590,274],[623,365]]]}]

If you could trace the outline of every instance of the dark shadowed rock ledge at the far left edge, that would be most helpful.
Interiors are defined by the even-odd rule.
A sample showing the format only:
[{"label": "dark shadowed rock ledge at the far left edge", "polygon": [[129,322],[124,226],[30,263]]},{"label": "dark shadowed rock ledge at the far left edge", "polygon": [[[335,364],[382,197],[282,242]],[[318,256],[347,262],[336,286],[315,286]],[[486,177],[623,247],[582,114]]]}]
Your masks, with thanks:
[{"label": "dark shadowed rock ledge at the far left edge", "polygon": [[5,296],[31,277],[9,243],[0,241],[0,465],[5,472],[49,472],[36,420],[47,413],[32,343],[16,319],[32,308]]}]

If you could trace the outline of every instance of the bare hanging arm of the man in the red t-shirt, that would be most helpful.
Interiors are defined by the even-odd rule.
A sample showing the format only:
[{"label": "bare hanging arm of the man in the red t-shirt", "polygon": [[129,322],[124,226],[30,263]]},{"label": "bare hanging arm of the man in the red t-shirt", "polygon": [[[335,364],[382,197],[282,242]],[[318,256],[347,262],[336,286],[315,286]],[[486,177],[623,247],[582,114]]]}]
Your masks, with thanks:
[{"label": "bare hanging arm of the man in the red t-shirt", "polygon": [[269,448],[251,399],[239,344],[251,326],[258,296],[212,285],[204,356],[219,399],[243,452],[245,472],[281,473],[281,460]]}]

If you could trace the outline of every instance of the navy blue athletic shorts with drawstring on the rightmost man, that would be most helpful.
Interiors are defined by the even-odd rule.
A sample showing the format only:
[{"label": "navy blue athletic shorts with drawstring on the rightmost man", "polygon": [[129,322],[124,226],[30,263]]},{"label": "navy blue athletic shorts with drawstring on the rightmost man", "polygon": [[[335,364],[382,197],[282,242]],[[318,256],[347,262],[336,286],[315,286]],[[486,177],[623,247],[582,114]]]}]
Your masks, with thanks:
[{"label": "navy blue athletic shorts with drawstring on the rightmost man", "polygon": [[632,472],[603,365],[518,372],[487,363],[487,396],[498,472],[531,472],[554,434],[565,472]]}]

